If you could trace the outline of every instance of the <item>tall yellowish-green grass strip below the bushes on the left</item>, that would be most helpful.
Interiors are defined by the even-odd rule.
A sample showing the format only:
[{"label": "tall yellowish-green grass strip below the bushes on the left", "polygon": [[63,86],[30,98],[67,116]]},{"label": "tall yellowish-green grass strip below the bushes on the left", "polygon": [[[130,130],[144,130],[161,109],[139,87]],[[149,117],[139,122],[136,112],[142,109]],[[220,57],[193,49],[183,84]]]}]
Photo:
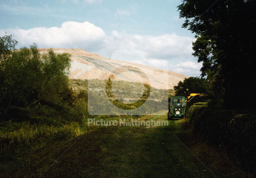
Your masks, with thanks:
[{"label": "tall yellowish-green grass strip below the bushes on the left", "polygon": [[[9,124],[11,121],[7,121]],[[3,123],[1,123],[3,124]],[[84,133],[78,122],[70,122],[62,126],[49,126],[30,124],[29,122],[12,123],[15,130],[7,131],[7,127],[0,131],[0,150],[8,151],[10,147],[16,148],[19,145],[29,145],[44,137],[49,140],[66,140]]]}]

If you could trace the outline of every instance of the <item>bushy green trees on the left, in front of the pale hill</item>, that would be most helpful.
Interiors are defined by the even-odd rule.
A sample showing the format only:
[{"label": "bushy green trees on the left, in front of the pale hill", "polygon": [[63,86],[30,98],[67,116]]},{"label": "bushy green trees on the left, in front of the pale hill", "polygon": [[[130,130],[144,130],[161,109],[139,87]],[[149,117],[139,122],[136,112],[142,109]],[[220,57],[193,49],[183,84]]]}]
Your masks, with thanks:
[{"label": "bushy green trees on the left, in front of the pale hill", "polygon": [[70,54],[49,50],[41,55],[36,44],[15,50],[11,36],[0,40],[1,107],[27,107],[38,102],[58,104],[67,95]]}]

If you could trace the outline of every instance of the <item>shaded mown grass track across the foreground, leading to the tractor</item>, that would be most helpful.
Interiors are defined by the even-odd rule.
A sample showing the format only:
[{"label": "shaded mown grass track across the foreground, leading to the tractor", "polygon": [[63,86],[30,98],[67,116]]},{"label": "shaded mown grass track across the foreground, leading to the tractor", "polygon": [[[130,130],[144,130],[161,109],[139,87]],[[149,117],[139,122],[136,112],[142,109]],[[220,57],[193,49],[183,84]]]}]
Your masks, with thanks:
[{"label": "shaded mown grass track across the foreground, leading to the tractor", "polygon": [[[166,115],[144,117],[151,118],[166,120]],[[178,137],[217,177],[253,177],[189,134],[183,124],[184,119],[162,127],[97,127],[79,140],[18,152],[0,163],[1,176],[39,177],[77,140],[41,177],[214,177]]]}]

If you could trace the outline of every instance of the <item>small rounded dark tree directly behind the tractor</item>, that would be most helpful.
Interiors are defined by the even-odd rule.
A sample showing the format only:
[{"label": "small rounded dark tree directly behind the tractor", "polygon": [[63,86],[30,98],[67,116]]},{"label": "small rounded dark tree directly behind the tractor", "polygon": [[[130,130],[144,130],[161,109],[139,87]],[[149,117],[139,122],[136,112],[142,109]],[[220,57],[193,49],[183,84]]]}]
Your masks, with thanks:
[{"label": "small rounded dark tree directly behind the tractor", "polygon": [[178,96],[188,97],[190,93],[209,93],[209,82],[205,78],[189,77],[173,87]]}]

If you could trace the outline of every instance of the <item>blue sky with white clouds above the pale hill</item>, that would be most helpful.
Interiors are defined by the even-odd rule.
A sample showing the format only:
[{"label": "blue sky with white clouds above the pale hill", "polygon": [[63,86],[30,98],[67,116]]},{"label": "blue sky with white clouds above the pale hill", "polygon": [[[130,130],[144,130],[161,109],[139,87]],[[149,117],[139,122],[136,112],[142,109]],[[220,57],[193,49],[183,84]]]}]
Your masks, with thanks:
[{"label": "blue sky with white clouds above the pale hill", "polygon": [[[200,76],[195,34],[182,28],[181,0],[0,0],[0,36],[17,48],[81,48],[188,76]],[[131,55],[132,54],[132,55]],[[129,57],[127,57],[129,56]],[[168,65],[166,65],[166,61]]]}]

